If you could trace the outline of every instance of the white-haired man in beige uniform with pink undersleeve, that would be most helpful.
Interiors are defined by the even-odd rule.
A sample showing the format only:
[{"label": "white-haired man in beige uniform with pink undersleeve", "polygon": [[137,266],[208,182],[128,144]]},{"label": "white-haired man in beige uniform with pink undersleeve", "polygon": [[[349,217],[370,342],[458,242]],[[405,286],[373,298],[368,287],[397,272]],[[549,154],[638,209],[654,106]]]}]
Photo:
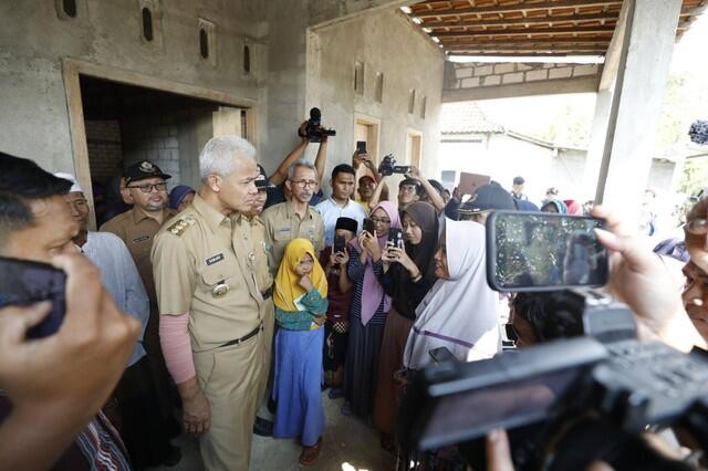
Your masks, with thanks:
[{"label": "white-haired man in beige uniform with pink undersleeve", "polygon": [[165,359],[207,470],[248,469],[268,369],[263,297],[242,216],[258,192],[254,156],[240,137],[210,139],[199,156],[199,193],[153,248]]}]

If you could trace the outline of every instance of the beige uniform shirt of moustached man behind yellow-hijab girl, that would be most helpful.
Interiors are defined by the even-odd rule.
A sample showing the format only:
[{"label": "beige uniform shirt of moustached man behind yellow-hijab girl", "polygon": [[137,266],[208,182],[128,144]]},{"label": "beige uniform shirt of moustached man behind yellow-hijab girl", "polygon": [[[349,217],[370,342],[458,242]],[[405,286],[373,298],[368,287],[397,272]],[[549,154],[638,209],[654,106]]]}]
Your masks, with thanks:
[{"label": "beige uniform shirt of moustached man behind yellow-hijab girl", "polygon": [[285,247],[293,239],[308,239],[317,254],[324,249],[324,223],[322,216],[308,207],[305,217],[300,219],[290,201],[271,206],[261,214],[266,226],[266,242],[270,245],[268,264],[273,275],[278,273]]}]

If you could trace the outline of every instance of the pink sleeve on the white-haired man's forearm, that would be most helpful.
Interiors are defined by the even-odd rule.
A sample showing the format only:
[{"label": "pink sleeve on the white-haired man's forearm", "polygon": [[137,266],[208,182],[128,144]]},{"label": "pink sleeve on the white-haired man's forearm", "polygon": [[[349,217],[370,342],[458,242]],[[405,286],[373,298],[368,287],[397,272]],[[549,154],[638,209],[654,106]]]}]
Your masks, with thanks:
[{"label": "pink sleeve on the white-haired man's forearm", "polygon": [[197,375],[195,360],[191,356],[188,324],[188,313],[159,316],[159,341],[163,346],[165,364],[169,374],[173,375],[175,384],[185,383]]}]

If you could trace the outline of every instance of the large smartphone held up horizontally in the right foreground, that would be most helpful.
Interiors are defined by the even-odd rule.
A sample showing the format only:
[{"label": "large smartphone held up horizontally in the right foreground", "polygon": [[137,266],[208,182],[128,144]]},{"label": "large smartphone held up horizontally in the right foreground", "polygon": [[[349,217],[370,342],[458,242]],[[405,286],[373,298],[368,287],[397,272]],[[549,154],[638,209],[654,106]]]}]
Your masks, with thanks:
[{"label": "large smartphone held up horizontally in the right foreground", "polygon": [[497,291],[549,291],[607,283],[600,219],[499,211],[487,220],[487,281]]}]

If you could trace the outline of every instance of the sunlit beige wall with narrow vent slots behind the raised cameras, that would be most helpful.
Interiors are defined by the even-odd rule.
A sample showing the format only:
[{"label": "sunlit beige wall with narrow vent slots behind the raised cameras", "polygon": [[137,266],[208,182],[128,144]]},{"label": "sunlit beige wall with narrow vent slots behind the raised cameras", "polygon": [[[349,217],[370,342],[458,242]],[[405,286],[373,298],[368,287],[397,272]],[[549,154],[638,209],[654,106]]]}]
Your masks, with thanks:
[{"label": "sunlit beige wall with narrow vent slots behind the raised cameras", "polygon": [[[354,90],[356,62],[362,62],[365,71],[361,94]],[[358,114],[381,121],[379,158],[393,153],[404,164],[407,130],[423,133],[420,167],[433,178],[444,65],[439,48],[397,10],[377,10],[313,29],[308,43],[306,108],[319,106],[323,124],[337,133],[331,139],[325,175],[336,164],[351,161]],[[384,75],[381,103],[375,97],[379,73]],[[410,90],[416,91],[413,114],[408,113]],[[324,186],[329,188],[329,182]]]}]

